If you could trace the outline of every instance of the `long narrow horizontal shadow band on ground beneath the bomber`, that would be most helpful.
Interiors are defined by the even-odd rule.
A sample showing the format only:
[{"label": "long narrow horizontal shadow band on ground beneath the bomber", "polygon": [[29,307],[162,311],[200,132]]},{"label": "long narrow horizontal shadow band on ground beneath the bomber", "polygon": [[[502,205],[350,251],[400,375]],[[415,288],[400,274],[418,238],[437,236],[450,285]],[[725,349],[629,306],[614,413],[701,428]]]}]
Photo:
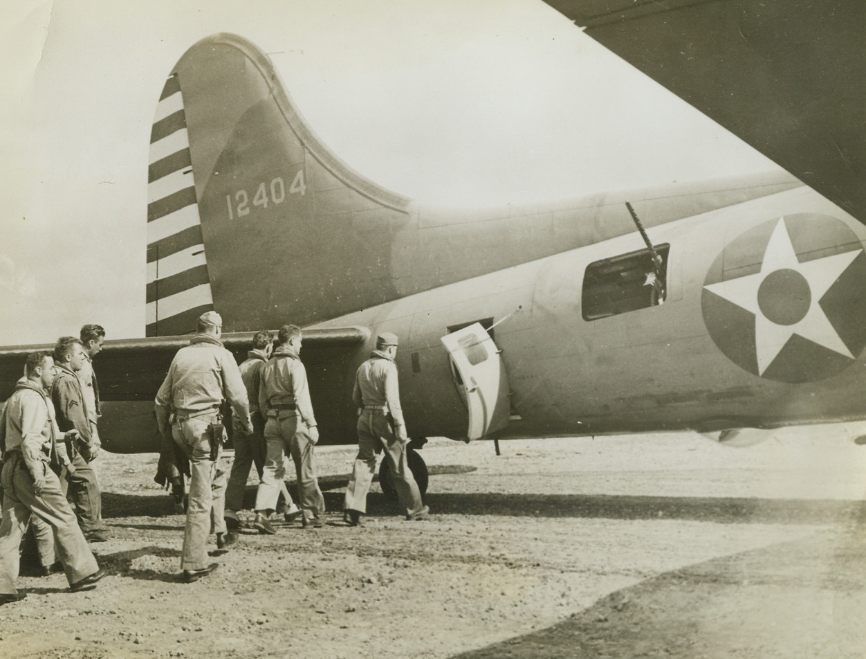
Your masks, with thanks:
[{"label": "long narrow horizontal shadow band on ground beneath the bomber", "polygon": [[[341,480],[345,487],[347,477]],[[435,480],[432,481],[435,488]],[[330,489],[336,489],[335,481]],[[326,491],[326,509],[339,512],[343,494]],[[296,499],[294,483],[289,493]],[[851,515],[866,516],[863,501],[835,499],[749,499],[715,497],[650,497],[588,494],[426,493],[424,503],[437,514],[494,515],[499,517],[582,519],[689,519],[721,524],[831,524]],[[255,486],[244,493],[245,509],[255,506]],[[176,515],[167,494],[103,493],[105,519]],[[378,492],[367,497],[367,514],[399,513],[397,502]]]}]

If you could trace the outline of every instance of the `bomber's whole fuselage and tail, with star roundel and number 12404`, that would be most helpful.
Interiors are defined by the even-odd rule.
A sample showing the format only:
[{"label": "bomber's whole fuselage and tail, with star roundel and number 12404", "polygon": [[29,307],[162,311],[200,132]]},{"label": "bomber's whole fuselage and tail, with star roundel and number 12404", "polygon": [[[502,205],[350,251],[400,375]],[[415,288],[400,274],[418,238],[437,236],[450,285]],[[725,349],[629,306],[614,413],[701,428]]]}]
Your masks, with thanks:
[{"label": "bomber's whole fuselage and tail, with star roundel and number 12404", "polygon": [[[780,169],[437,209],[340,160],[242,37],[207,37],[168,74],[147,183],[148,338],[107,341],[95,365],[107,450],[157,450],[153,396],[211,308],[241,358],[255,330],[303,327],[322,444],[355,442],[353,377],[383,332],[398,337],[414,437],[724,440],[866,416],[866,228]],[[626,201],[664,255],[663,303]],[[474,323],[484,359],[460,334]],[[0,396],[35,348],[0,349]]]}]

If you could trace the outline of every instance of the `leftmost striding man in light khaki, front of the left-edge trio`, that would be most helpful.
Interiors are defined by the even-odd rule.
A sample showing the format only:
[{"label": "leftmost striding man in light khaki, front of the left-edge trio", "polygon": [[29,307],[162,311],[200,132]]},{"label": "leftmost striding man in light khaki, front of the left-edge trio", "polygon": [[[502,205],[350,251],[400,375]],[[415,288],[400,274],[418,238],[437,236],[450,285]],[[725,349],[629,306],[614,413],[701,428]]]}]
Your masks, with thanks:
[{"label": "leftmost striding man in light khaki, front of the left-edge trio", "polygon": [[31,514],[54,532],[57,554],[69,589],[93,586],[107,571],[100,570],[75,513],[61,490],[60,479],[50,466],[68,464],[58,436],[75,440],[78,432],[60,434],[47,389],[55,379],[54,359],[47,352],[30,353],[25,374],[6,403],[0,420],[4,459],[3,513],[0,521],[0,604],[23,599],[16,589],[18,545]]}]

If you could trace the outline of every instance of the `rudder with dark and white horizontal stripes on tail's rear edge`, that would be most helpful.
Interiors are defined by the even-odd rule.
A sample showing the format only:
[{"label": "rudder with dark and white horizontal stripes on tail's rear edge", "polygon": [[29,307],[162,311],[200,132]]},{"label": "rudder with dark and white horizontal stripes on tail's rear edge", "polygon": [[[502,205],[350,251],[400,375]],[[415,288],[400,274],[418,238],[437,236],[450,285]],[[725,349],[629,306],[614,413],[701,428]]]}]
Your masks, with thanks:
[{"label": "rudder with dark and white horizontal stripes on tail's rear edge", "polygon": [[214,304],[177,74],[159,98],[149,162],[146,336],[184,334]]}]

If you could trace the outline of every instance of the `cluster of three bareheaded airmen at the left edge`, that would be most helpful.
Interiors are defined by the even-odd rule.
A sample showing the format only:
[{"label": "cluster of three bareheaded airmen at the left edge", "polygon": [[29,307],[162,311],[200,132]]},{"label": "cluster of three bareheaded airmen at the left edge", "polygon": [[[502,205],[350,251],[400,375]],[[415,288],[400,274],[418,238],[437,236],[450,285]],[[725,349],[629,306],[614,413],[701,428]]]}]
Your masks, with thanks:
[{"label": "cluster of three bareheaded airmen at the left edge", "polygon": [[88,545],[110,535],[93,467],[101,443],[92,360],[104,341],[100,325],[85,325],[78,338],[62,336],[53,352],[31,352],[0,414],[0,604],[25,595],[16,578],[31,517],[42,574],[64,571],[73,591],[107,574]]}]

